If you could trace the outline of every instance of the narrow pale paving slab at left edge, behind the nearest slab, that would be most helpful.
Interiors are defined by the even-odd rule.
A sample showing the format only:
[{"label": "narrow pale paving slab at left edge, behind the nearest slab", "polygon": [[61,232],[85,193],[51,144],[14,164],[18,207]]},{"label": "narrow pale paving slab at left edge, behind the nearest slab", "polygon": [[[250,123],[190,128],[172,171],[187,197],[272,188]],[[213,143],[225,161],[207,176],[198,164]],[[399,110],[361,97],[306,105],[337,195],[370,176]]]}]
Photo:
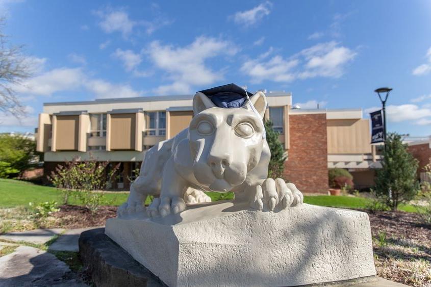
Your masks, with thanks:
[{"label": "narrow pale paving slab at left edge, behind the nearest slab", "polygon": [[54,236],[61,234],[65,229],[34,229],[30,231],[8,232],[0,236],[2,239],[12,241],[25,241],[34,244],[44,244],[51,240]]}]

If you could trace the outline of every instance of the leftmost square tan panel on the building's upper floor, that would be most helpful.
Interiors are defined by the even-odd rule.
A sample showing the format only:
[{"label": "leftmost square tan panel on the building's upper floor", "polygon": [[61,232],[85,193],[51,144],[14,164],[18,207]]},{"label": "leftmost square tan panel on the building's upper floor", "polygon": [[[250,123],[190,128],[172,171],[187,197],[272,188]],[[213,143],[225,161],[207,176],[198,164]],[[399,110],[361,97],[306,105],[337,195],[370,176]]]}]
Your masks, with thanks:
[{"label": "leftmost square tan panel on the building's upper floor", "polygon": [[78,150],[79,116],[57,116],[56,150]]}]

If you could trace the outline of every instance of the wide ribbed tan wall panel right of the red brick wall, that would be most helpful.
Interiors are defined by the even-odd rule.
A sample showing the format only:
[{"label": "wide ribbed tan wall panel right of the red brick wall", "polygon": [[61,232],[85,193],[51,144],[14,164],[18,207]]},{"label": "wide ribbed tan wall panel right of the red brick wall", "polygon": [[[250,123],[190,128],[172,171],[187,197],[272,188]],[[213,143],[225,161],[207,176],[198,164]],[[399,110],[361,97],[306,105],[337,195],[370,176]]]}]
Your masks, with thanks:
[{"label": "wide ribbed tan wall panel right of the red brick wall", "polygon": [[370,126],[366,119],[327,120],[328,153],[370,153]]}]

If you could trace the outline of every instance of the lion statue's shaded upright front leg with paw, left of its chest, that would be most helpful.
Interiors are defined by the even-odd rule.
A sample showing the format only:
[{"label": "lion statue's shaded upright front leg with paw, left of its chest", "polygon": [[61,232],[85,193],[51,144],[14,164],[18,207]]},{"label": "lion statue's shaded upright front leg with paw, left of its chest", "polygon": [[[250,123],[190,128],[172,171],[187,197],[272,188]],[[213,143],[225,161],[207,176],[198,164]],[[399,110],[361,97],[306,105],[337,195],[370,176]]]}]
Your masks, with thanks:
[{"label": "lion statue's shaded upright front leg with paw, left of its chest", "polygon": [[147,208],[150,217],[165,217],[169,214],[177,214],[186,209],[184,192],[186,181],[175,171],[173,159],[167,161],[163,170],[162,189],[160,197],[155,198]]}]

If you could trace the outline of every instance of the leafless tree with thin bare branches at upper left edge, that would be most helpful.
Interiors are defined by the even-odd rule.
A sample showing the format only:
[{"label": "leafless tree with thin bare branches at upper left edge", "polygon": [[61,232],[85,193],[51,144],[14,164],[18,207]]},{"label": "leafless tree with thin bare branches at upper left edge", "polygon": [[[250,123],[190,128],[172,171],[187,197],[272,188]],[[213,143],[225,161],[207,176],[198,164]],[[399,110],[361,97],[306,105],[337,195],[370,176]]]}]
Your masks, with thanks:
[{"label": "leafless tree with thin bare branches at upper left edge", "polygon": [[19,117],[24,114],[24,107],[16,87],[31,75],[30,63],[22,53],[22,45],[8,44],[8,36],[2,32],[4,23],[5,19],[0,18],[0,111]]}]

